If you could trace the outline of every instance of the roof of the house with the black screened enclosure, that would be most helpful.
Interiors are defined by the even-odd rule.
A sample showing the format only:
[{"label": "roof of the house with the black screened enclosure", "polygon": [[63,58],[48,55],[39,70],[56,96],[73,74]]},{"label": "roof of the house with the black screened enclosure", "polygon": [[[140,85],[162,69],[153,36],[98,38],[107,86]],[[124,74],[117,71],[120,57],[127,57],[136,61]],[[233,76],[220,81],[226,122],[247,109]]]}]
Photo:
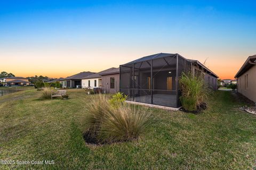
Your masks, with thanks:
[{"label": "roof of the house with the black screened enclosure", "polygon": [[[145,57],[141,57],[137,60],[134,60],[134,61],[131,61],[129,63],[126,63],[126,64],[123,64],[123,65],[129,65],[129,64],[135,64],[135,63],[140,63],[140,62],[145,62],[145,61],[150,61],[150,60],[155,60],[155,59],[158,59],[158,58],[164,58],[164,57],[174,57],[178,55],[179,57],[187,60],[188,62],[190,63],[196,63],[197,65],[203,67],[207,72],[209,72],[211,75],[213,75],[214,77],[216,78],[219,78],[217,74],[213,73],[210,69],[208,69],[206,66],[204,66],[202,63],[200,63],[199,61],[197,60],[190,60],[190,59],[187,59],[181,55],[179,55],[178,53],[176,54],[170,54],[170,53],[158,53],[158,54],[153,54],[153,55],[149,55],[149,56],[145,56]],[[122,66],[122,65],[121,65]]]}]

